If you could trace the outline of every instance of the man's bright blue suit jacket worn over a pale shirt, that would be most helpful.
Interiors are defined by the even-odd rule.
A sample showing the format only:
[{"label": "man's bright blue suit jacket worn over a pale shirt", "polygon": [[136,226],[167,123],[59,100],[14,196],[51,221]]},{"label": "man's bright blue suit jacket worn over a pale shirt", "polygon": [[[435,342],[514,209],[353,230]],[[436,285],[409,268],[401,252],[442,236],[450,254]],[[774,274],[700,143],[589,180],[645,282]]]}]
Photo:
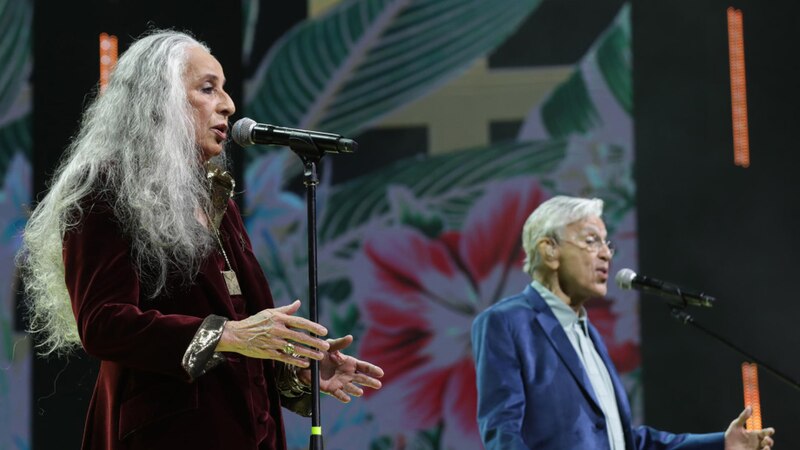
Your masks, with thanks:
[{"label": "man's bright blue suit jacket worn over a pale shirt", "polygon": [[[631,426],[628,397],[597,330],[589,333],[617,397],[627,449],[722,450],[723,433],[672,434]],[[478,425],[487,450],[609,449],[606,420],[567,334],[528,285],[472,324]]]}]

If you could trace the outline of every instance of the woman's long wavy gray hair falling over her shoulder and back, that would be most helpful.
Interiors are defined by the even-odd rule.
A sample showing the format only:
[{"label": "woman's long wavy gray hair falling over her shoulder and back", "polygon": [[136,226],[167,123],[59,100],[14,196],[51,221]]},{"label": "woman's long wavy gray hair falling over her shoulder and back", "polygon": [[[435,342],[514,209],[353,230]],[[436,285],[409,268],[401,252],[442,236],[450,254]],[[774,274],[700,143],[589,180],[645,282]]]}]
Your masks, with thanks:
[{"label": "woman's long wavy gray hair falling over her shoulder and back", "polygon": [[62,243],[65,232],[79,225],[87,206],[82,201],[90,196],[110,193],[150,298],[165,291],[168,277],[191,281],[213,248],[196,215],[208,206],[208,193],[183,83],[187,49],[195,46],[208,51],[174,31],[153,32],[131,45],[84,112],[49,193],[25,227],[18,263],[29,329],[39,335],[43,354],[80,345]]}]

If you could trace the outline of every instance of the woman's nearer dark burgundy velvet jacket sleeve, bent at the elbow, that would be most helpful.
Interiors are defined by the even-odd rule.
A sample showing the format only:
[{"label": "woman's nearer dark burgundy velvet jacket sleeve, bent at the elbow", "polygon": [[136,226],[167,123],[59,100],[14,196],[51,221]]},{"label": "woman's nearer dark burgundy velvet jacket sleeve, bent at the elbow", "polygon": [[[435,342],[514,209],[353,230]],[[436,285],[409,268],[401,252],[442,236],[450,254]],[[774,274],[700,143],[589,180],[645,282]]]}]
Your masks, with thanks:
[{"label": "woman's nearer dark burgundy velvet jacket sleeve, bent at the elbow", "polygon": [[[181,361],[202,317],[164,314],[140,302],[139,276],[111,208],[85,208],[64,236],[64,278],[87,353],[189,381]],[[153,300],[169,301],[169,300]]]}]

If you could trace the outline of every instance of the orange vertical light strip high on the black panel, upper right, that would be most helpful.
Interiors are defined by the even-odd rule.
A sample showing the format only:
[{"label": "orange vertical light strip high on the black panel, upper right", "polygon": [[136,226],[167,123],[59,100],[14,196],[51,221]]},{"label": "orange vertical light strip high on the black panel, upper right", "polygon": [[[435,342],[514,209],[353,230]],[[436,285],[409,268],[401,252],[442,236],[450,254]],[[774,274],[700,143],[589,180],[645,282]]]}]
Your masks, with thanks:
[{"label": "orange vertical light strip high on the black panel, upper right", "polygon": [[744,76],[744,25],[742,11],[728,8],[728,58],[731,72],[733,116],[733,163],[750,166],[750,136],[747,128],[747,85]]}]

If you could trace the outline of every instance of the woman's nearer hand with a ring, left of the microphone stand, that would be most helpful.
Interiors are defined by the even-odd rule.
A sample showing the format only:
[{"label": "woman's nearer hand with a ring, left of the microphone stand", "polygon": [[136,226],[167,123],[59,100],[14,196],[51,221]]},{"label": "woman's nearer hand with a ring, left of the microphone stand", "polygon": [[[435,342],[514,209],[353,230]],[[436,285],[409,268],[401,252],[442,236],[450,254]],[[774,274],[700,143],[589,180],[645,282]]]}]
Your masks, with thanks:
[{"label": "woman's nearer hand with a ring, left of the microphone stand", "polygon": [[280,308],[265,309],[243,320],[225,323],[218,352],[235,352],[252,358],[274,359],[308,367],[308,358],[322,360],[331,344],[310,336],[325,336],[328,330],[308,319],[295,316],[300,300]]}]

